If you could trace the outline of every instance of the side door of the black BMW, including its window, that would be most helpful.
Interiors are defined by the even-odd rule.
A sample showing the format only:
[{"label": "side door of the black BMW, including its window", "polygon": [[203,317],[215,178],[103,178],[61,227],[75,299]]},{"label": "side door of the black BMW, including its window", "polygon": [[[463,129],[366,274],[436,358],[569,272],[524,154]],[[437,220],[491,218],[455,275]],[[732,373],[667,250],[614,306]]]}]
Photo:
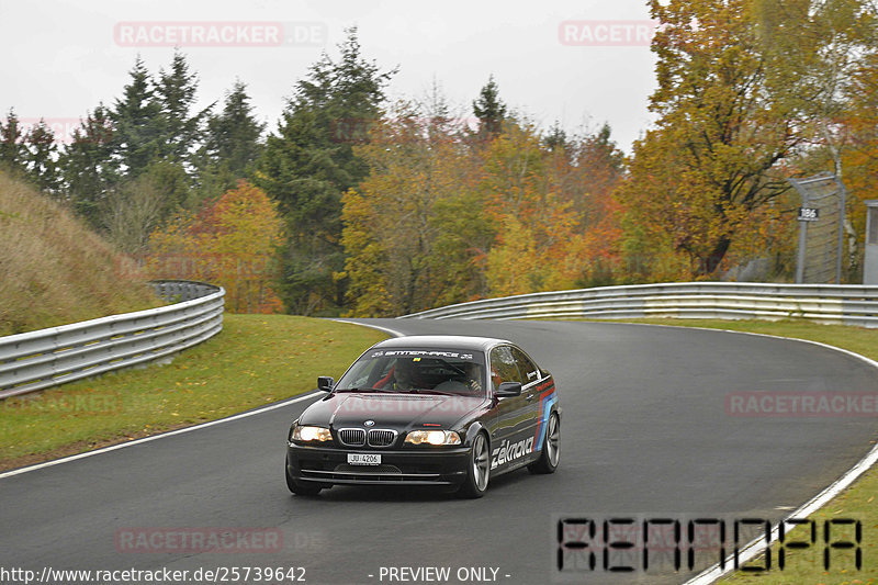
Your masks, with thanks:
[{"label": "side door of the black BMW, including its window", "polygon": [[[511,347],[494,347],[488,355],[488,367],[492,392],[495,392],[503,382],[519,382],[525,385]],[[496,400],[497,404],[489,421],[492,471],[513,465],[525,457],[530,452],[527,450],[528,440],[530,439],[532,443],[533,438],[532,434],[530,437],[527,436],[532,417],[528,415],[530,404],[526,393],[522,391],[520,396]]]}]

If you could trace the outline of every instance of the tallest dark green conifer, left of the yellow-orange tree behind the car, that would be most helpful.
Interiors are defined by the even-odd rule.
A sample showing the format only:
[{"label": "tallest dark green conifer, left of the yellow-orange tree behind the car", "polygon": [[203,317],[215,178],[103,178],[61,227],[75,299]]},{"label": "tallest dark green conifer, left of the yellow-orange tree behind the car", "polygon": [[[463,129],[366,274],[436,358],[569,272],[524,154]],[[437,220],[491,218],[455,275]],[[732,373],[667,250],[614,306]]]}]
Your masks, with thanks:
[{"label": "tallest dark green conifer, left of the yellow-orange tree behind the car", "polygon": [[282,295],[294,313],[338,314],[346,302],[341,194],[369,173],[349,128],[365,137],[395,72],[364,60],[357,30],[347,33],[340,59],[324,54],[296,85],[258,162],[257,183],[289,223]]}]

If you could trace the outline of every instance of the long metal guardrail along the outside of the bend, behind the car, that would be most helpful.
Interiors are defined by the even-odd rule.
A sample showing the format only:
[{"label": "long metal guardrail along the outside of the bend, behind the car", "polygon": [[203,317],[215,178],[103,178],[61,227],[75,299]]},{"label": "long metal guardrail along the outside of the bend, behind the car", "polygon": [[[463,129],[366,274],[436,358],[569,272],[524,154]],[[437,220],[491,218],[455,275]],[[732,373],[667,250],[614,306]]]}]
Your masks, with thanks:
[{"label": "long metal guardrail along the outside of the bend, behind the car", "polygon": [[806,318],[878,327],[878,286],[682,282],[603,286],[473,301],[398,318]]}]

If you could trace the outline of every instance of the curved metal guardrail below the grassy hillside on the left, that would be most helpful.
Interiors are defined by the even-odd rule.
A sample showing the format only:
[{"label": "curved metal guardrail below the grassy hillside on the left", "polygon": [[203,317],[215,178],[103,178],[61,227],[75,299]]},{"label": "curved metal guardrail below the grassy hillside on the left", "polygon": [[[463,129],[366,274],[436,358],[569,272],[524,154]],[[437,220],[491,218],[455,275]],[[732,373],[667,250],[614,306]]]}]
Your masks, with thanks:
[{"label": "curved metal guardrail below the grassy hillside on the left", "polygon": [[222,286],[151,284],[175,304],[0,337],[0,400],[159,360],[223,329]]}]

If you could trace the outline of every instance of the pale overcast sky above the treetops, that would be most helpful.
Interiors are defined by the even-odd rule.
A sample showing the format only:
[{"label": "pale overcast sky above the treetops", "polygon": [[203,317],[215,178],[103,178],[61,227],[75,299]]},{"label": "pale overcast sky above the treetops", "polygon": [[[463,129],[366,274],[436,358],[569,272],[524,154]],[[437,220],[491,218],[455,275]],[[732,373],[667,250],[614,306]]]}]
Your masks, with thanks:
[{"label": "pale overcast sky above the treetops", "polygon": [[157,72],[177,42],[202,105],[240,78],[273,130],[296,80],[357,25],[363,55],[399,68],[392,98],[424,98],[436,79],[471,116],[493,74],[500,98],[543,127],[606,121],[630,151],[651,121],[649,19],[645,0],[0,0],[0,108],[75,121],[121,94],[138,54]]}]

